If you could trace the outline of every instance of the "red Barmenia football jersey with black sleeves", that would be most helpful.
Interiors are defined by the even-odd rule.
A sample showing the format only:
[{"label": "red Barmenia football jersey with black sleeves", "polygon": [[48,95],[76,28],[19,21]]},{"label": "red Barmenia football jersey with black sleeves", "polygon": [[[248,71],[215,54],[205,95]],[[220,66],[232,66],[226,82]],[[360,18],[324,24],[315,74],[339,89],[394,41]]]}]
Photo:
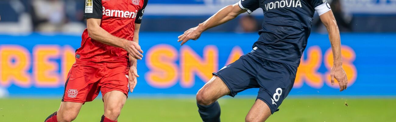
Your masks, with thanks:
[{"label": "red Barmenia football jersey with black sleeves", "polygon": [[[133,40],[135,23],[141,23],[148,0],[86,0],[84,18],[101,19],[100,27],[113,36]],[[128,52],[109,46],[82,33],[81,47],[76,50],[76,63],[128,64]]]}]

